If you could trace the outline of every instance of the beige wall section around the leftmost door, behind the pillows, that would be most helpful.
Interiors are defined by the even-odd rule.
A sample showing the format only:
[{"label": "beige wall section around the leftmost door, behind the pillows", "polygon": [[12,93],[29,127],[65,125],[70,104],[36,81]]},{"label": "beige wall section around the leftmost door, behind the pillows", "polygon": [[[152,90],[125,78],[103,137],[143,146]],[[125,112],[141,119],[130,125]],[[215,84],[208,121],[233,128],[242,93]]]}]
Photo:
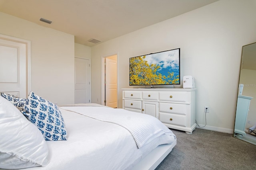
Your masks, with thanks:
[{"label": "beige wall section around the leftmost door, behind the pillows", "polygon": [[51,102],[74,103],[74,35],[0,12],[0,34],[31,41],[31,90]]}]

